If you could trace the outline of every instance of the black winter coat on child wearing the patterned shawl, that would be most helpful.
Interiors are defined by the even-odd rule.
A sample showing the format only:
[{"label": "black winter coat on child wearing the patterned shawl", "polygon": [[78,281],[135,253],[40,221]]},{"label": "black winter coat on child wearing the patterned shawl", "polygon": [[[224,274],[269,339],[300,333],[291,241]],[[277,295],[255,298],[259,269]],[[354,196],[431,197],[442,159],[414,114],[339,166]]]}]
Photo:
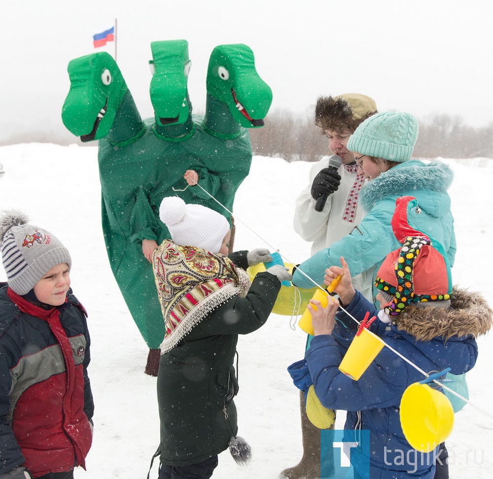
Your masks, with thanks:
[{"label": "black winter coat on child wearing the patterned shawl", "polygon": [[[229,257],[246,269],[246,251]],[[267,321],[280,289],[277,276],[257,274],[246,298],[225,301],[161,356],[157,377],[161,462],[195,464],[228,448],[238,430],[233,402],[238,393],[233,366],[238,335]]]}]

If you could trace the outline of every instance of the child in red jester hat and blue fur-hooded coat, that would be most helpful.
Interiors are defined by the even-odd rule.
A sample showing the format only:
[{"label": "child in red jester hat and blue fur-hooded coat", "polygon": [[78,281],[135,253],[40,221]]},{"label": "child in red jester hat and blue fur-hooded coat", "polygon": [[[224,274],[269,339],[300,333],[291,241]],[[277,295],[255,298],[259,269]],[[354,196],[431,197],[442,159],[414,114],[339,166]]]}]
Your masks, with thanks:
[{"label": "child in red jester hat and blue fur-hooded coat", "polygon": [[[334,288],[339,298],[329,299],[325,308],[311,300],[317,308],[308,307],[314,338],[305,358],[288,367],[302,391],[313,385],[324,408],[347,411],[345,440],[359,442],[350,457],[358,478],[404,478],[411,470],[414,477],[436,477],[435,471],[447,457],[445,443],[428,444],[430,452],[419,452],[409,444],[400,421],[402,395],[423,380],[423,372],[442,372],[452,380],[447,387],[467,399],[465,373],[478,357],[476,338],[493,323],[492,308],[481,294],[457,285],[452,288],[450,266],[440,243],[410,226],[408,213],[417,208],[414,197],[396,200],[391,226],[401,246],[387,255],[376,280],[383,310],[354,289],[348,263],[340,257],[342,267],[330,266],[324,276],[326,286],[340,276]],[[354,380],[339,370],[341,360],[358,323],[374,316],[380,320],[370,321],[369,330],[388,347]],[[460,398],[443,392],[455,412],[464,406]]]}]

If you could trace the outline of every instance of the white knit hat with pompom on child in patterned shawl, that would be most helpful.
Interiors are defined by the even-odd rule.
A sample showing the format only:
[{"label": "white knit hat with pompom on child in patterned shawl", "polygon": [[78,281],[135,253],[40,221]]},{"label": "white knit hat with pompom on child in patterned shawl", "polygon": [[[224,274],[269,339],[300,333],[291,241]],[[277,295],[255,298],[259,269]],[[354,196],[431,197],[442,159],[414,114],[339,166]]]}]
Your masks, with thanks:
[{"label": "white knit hat with pompom on child in patterned shawl", "polygon": [[229,231],[228,220],[203,205],[187,205],[176,196],[164,198],[159,217],[168,227],[171,239],[180,246],[195,246],[218,253]]}]

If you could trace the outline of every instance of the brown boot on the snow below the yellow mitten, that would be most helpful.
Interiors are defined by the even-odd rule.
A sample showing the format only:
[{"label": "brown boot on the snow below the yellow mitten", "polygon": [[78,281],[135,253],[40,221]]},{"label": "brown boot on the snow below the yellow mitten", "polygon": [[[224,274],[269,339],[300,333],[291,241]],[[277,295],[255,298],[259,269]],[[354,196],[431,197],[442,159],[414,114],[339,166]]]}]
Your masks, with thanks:
[{"label": "brown boot on the snow below the yellow mitten", "polygon": [[[301,437],[303,443],[303,457],[297,466],[284,469],[280,479],[320,479],[320,429],[308,419],[305,408],[305,394],[300,391],[301,409]],[[327,458],[325,458],[327,460]],[[327,468],[324,468],[327,470]],[[332,467],[328,468],[332,476]],[[326,476],[326,477],[330,477]],[[325,479],[325,476],[324,476]]]}]

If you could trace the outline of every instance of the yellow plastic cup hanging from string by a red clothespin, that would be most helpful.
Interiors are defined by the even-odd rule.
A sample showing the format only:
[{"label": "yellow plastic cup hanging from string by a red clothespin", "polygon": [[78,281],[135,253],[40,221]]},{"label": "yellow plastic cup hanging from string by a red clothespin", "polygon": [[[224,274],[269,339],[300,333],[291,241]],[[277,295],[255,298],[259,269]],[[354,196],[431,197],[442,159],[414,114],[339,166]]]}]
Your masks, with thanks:
[{"label": "yellow plastic cup hanging from string by a red clothespin", "polygon": [[378,336],[365,327],[358,330],[339,365],[339,371],[357,381],[384,347]]}]

